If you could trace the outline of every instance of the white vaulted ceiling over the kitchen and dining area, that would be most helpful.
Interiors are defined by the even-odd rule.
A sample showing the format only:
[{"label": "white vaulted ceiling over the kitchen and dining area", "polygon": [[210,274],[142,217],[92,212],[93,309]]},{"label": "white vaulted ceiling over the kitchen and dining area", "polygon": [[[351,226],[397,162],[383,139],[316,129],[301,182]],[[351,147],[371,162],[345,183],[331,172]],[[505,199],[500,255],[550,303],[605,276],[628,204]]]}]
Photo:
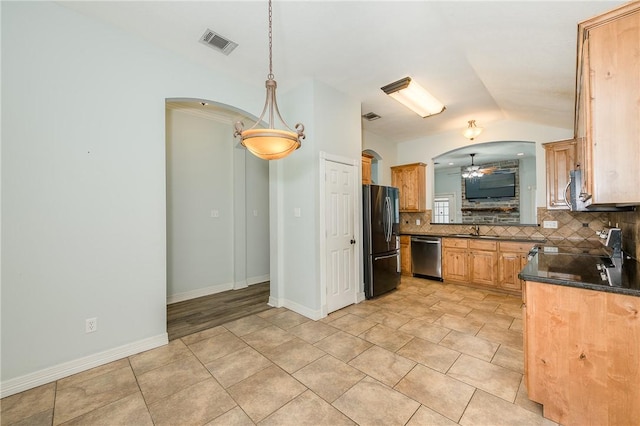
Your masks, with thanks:
[{"label": "white vaulted ceiling over the kitchen and dining area", "polygon": [[[255,85],[262,96],[266,1],[59,3]],[[363,128],[393,142],[462,130],[471,119],[572,128],[577,23],[623,3],[274,0],[275,79],[279,92],[314,78],[352,96],[363,114],[382,117],[363,119]],[[225,56],[199,43],[207,29],[238,47]],[[446,111],[423,119],[380,90],[406,76]]]}]

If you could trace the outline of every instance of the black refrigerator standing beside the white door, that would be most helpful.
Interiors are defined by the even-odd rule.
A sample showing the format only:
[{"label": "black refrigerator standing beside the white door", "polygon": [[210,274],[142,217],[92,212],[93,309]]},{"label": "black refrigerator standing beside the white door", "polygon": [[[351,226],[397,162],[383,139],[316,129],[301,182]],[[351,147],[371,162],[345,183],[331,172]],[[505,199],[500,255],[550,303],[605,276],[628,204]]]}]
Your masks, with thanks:
[{"label": "black refrigerator standing beside the white door", "polygon": [[364,293],[367,299],[400,283],[398,188],[363,185]]}]

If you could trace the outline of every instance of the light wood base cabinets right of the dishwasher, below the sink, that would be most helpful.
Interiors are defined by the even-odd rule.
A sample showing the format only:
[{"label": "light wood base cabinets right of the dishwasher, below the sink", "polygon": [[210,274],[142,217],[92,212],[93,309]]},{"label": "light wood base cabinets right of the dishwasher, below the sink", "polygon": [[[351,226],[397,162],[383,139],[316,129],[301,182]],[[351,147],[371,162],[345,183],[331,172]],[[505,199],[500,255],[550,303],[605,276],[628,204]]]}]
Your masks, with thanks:
[{"label": "light wood base cabinets right of the dishwasher, below the sink", "polygon": [[520,294],[522,281],[518,274],[527,264],[532,247],[528,242],[443,238],[442,278]]}]

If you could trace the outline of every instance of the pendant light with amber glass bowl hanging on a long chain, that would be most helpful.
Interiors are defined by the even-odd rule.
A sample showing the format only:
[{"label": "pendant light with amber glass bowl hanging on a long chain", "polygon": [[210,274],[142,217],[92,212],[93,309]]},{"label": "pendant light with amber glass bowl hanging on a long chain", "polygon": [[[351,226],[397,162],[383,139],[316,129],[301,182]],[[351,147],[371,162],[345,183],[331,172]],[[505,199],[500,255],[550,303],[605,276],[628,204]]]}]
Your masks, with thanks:
[{"label": "pendant light with amber glass bowl hanging on a long chain", "polygon": [[[256,157],[265,160],[278,160],[291,154],[300,148],[301,139],[305,138],[304,125],[298,123],[295,125],[295,131],[287,126],[278,110],[278,102],[276,101],[276,81],[273,76],[273,60],[272,60],[272,11],[271,0],[269,0],[269,74],[265,83],[267,87],[267,99],[264,103],[264,109],[258,121],[251,128],[244,130],[244,123],[238,121],[235,125],[234,137],[240,136],[241,143]],[[265,114],[268,112],[269,127],[260,128]],[[280,130],[274,127],[274,119],[278,117],[285,129]]]}]

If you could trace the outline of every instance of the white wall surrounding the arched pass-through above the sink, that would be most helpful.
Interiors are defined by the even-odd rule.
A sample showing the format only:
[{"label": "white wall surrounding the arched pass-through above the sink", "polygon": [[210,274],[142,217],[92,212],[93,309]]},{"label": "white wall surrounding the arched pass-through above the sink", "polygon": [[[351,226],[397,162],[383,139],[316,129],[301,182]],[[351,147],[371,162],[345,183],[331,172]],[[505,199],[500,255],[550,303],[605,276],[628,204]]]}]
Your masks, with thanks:
[{"label": "white wall surrounding the arched pass-through above the sink", "polygon": [[503,120],[486,124],[484,132],[474,141],[469,141],[463,137],[461,131],[462,128],[460,131],[445,132],[428,138],[420,138],[398,144],[398,164],[418,161],[427,164],[427,206],[433,206],[434,157],[470,144],[494,141],[532,141],[536,143],[536,204],[538,207],[545,206],[546,173],[542,144],[569,139],[573,137],[573,129]]}]

